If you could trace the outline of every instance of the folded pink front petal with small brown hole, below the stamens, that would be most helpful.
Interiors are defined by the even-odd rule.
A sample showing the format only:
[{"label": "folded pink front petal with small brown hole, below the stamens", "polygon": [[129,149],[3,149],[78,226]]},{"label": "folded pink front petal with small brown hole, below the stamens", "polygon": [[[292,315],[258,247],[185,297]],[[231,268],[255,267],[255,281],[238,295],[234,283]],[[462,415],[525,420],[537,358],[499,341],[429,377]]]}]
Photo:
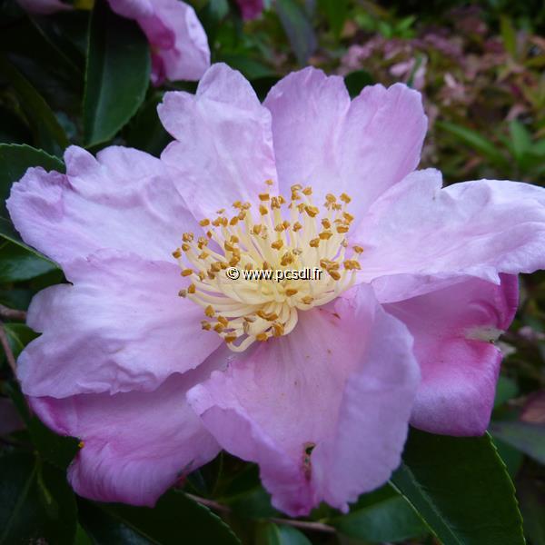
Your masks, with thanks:
[{"label": "folded pink front petal with small brown hole, below the stamens", "polygon": [[400,461],[418,365],[401,322],[360,286],[335,312],[302,312],[288,336],[243,354],[188,392],[227,451],[260,465],[291,515],[320,500],[347,509]]}]

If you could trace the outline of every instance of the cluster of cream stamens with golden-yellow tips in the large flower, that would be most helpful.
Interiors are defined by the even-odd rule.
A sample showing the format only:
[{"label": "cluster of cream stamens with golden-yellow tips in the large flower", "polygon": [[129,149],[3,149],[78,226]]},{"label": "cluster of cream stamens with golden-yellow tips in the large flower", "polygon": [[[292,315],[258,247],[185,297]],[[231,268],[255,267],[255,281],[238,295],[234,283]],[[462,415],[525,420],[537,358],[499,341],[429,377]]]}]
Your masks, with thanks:
[{"label": "cluster of cream stamens with golden-yellow tips in the large flower", "polygon": [[183,233],[173,252],[191,281],[179,295],[203,307],[203,329],[235,352],[287,335],[298,312],[332,301],[355,282],[363,249],[346,239],[350,201],[328,193],[321,210],[312,188],[296,184],[289,201],[260,193],[255,214],[251,203],[239,201],[231,218],[219,210],[200,222],[206,236]]}]

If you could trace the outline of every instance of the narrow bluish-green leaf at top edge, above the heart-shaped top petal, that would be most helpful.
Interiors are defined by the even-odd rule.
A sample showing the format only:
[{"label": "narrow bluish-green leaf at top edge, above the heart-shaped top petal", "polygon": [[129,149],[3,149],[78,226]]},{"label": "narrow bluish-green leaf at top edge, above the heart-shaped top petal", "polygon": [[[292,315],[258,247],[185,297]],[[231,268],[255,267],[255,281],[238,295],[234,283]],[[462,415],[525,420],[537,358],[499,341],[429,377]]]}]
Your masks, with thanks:
[{"label": "narrow bluish-green leaf at top edge, above the heart-shaped top petal", "polygon": [[317,45],[309,16],[297,0],[277,0],[276,11],[299,64],[306,64]]}]

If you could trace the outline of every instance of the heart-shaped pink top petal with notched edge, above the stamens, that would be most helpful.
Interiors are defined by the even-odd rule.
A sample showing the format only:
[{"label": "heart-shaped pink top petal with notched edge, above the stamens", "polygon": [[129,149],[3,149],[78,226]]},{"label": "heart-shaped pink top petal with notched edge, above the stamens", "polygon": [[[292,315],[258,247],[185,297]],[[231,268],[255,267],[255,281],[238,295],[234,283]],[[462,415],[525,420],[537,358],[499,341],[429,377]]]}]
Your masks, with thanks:
[{"label": "heart-shaped pink top petal with notched edge, above the stamens", "polygon": [[427,119],[421,94],[404,84],[365,87],[351,103],[342,77],[308,67],[274,85],[263,104],[281,191],[310,184],[317,203],[348,193],[356,220],[420,161]]}]

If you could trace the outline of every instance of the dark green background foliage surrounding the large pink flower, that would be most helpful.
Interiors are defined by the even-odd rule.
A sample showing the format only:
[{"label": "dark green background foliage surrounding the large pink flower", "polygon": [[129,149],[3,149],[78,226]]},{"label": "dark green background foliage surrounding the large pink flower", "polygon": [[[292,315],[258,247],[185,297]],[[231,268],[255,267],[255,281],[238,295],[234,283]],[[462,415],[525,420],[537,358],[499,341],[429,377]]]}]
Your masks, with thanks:
[{"label": "dark green background foliage surrounding the large pink flower", "polygon": [[[352,95],[367,84],[421,90],[430,117],[422,165],[447,183],[545,176],[545,7],[539,0],[275,0],[243,23],[234,3],[194,0],[213,52],[264,97],[305,64],[342,74]],[[220,455],[178,483],[154,510],[74,496],[65,469],[78,441],[29,413],[13,376],[35,333],[25,310],[63,282],[25,245],[5,210],[30,165],[62,171],[62,152],[124,144],[159,155],[168,135],[149,84],[138,26],[97,0],[92,9],[29,17],[0,0],[0,543],[545,544],[545,275],[521,279],[520,311],[505,333],[490,433],[456,439],[411,431],[391,482],[350,513],[275,511],[257,468]],[[513,485],[514,483],[514,485]],[[516,492],[515,492],[516,488]],[[521,528],[520,512],[523,515]]]}]

